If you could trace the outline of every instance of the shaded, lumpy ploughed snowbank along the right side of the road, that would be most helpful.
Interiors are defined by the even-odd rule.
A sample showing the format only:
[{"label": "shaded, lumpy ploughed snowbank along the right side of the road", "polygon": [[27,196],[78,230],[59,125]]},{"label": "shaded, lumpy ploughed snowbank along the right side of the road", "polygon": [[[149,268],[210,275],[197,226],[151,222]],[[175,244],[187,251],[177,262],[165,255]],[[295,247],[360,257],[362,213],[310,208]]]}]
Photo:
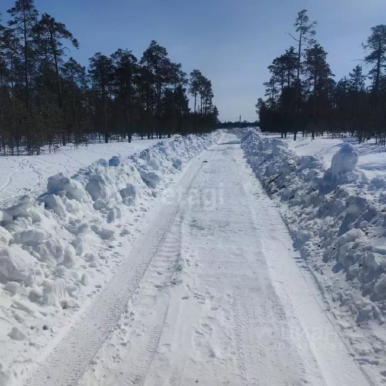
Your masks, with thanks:
[{"label": "shaded, lumpy ploughed snowbank along the right side of the road", "polygon": [[[315,156],[298,156],[256,130],[242,134],[248,163],[282,215],[302,256],[340,308],[357,323],[386,315],[386,181],[357,169],[344,143],[326,170]],[[319,273],[319,274],[318,274]],[[343,278],[342,280],[340,278]]]}]

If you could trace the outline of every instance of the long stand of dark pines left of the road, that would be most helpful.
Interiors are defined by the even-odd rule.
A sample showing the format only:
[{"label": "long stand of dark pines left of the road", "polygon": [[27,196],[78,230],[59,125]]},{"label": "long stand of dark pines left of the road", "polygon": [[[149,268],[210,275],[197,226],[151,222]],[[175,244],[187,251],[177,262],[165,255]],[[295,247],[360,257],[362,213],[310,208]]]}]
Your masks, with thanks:
[{"label": "long stand of dark pines left of the road", "polygon": [[156,41],[140,59],[121,48],[110,56],[96,52],[86,68],[67,57],[67,46],[79,48],[76,38],[33,0],[17,0],[7,14],[6,24],[0,19],[1,154],[217,127],[211,81],[197,69],[188,77]]}]

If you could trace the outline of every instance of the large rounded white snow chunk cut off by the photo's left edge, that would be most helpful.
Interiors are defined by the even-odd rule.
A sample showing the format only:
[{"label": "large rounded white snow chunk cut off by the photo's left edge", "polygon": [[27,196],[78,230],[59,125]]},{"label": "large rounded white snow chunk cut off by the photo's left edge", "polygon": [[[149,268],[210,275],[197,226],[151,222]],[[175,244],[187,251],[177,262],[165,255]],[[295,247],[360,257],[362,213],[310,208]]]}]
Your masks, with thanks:
[{"label": "large rounded white snow chunk cut off by the photo's left edge", "polygon": [[26,281],[35,271],[36,260],[17,245],[0,249],[0,280]]}]

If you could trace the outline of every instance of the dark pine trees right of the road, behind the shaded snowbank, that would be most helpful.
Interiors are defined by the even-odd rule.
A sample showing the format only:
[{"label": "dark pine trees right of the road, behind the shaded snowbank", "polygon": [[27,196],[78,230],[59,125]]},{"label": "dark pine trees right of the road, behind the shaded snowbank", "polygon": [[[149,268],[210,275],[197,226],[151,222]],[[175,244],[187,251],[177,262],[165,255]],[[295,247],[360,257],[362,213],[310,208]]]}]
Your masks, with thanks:
[{"label": "dark pine trees right of the road, behind the shaded snowbank", "polygon": [[[364,57],[348,75],[334,80],[327,52],[316,41],[316,22],[298,13],[295,44],[273,59],[264,83],[266,99],[256,104],[263,131],[301,131],[303,136],[349,134],[359,142],[386,143],[386,25],[371,28],[362,43]],[[367,71],[364,71],[364,68]]]}]

